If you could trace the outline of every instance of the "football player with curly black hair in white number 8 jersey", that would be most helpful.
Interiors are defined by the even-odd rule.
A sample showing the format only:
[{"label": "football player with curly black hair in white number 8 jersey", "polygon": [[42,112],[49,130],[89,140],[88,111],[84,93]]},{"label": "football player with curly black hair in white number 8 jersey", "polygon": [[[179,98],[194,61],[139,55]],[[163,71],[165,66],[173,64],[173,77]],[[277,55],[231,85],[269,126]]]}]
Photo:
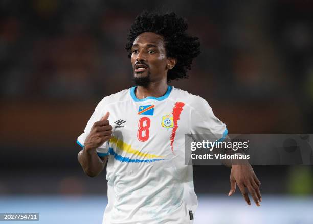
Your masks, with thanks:
[{"label": "football player with curly black hair in white number 8 jersey", "polygon": [[[78,137],[88,176],[107,162],[105,224],[193,222],[198,203],[192,165],[184,164],[185,134],[225,138],[227,129],[203,98],[167,85],[188,78],[200,53],[198,38],[186,30],[175,13],[137,16],[126,45],[136,86],[104,97]],[[260,182],[250,165],[233,165],[230,179],[229,195],[237,183],[247,203],[245,188],[259,205]]]}]

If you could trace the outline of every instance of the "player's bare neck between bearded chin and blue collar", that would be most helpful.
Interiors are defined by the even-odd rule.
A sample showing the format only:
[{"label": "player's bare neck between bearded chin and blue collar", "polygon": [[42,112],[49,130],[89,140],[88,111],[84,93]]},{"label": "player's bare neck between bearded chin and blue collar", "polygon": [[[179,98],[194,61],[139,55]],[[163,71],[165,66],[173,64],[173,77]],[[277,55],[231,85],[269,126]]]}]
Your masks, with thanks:
[{"label": "player's bare neck between bearded chin and blue collar", "polygon": [[137,86],[135,90],[135,95],[139,99],[146,98],[148,96],[152,97],[161,97],[165,95],[167,91],[167,82],[165,80],[161,80],[159,82],[151,82],[148,86]]}]

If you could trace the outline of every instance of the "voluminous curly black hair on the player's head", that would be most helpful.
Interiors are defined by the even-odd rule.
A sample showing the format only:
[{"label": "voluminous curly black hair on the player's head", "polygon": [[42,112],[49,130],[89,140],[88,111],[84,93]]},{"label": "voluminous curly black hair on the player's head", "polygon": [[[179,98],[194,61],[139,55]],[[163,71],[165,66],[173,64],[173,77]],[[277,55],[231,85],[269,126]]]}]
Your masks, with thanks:
[{"label": "voluminous curly black hair on the player's head", "polygon": [[174,12],[160,14],[144,11],[138,15],[129,29],[125,49],[131,57],[131,47],[136,37],[144,32],[153,32],[163,36],[167,57],[176,58],[175,67],[168,71],[167,81],[188,78],[187,69],[191,69],[192,60],[200,54],[198,37],[186,33],[186,21]]}]

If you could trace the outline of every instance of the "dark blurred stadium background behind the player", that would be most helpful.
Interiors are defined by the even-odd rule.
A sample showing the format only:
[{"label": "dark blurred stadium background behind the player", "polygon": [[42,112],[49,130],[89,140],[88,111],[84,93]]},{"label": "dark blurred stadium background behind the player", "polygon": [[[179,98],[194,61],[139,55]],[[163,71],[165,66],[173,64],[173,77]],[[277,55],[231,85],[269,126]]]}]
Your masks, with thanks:
[{"label": "dark blurred stadium background behind the player", "polygon": [[[0,0],[0,213],[101,223],[105,172],[84,175],[76,138],[105,95],[132,86],[128,28],[155,8],[202,42],[190,79],[171,85],[207,99],[231,134],[313,133],[313,1]],[[228,168],[194,166],[195,223],[313,223],[311,166],[254,169],[260,208],[227,197]]]}]

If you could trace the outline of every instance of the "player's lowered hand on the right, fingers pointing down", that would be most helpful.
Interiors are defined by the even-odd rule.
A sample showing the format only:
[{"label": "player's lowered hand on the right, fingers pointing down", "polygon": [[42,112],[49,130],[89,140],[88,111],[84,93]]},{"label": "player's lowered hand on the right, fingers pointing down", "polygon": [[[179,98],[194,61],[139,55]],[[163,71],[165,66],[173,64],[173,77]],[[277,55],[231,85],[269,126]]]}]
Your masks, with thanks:
[{"label": "player's lowered hand on the right, fingers pointing down", "polygon": [[251,194],[255,204],[257,206],[260,206],[260,202],[262,201],[261,193],[259,189],[261,182],[256,177],[250,164],[232,165],[230,182],[231,182],[231,190],[228,196],[233,195],[233,193],[236,190],[236,184],[237,184],[242,193],[244,200],[247,202],[248,205],[251,205],[251,202],[250,202],[246,188]]}]

